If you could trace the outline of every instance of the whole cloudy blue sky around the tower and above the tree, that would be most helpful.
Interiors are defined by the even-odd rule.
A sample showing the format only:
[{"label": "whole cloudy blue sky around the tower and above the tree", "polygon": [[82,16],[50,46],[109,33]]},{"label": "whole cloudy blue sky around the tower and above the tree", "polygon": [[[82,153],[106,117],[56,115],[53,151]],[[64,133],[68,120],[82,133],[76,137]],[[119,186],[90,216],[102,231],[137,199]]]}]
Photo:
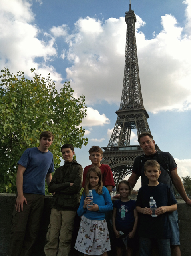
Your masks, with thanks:
[{"label": "whole cloudy blue sky around the tower and above the tree", "polygon": [[[0,66],[30,68],[59,89],[71,81],[88,106],[88,145],[75,149],[83,167],[92,145],[107,146],[121,100],[127,0],[0,0]],[[191,176],[191,0],[131,0],[139,73],[149,127],[170,152],[179,176]],[[137,144],[132,130],[131,144]],[[135,188],[139,188],[140,182]]]}]

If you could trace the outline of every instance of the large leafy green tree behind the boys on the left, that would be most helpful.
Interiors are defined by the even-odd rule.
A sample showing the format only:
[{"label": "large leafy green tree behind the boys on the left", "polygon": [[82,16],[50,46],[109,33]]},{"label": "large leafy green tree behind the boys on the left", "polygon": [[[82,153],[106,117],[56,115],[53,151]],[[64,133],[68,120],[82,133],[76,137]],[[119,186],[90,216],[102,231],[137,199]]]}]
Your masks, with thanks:
[{"label": "large leafy green tree behind the boys on the left", "polygon": [[71,143],[86,145],[85,130],[80,123],[86,116],[85,97],[74,98],[70,82],[58,92],[50,74],[46,78],[34,73],[33,80],[1,70],[0,84],[0,192],[16,192],[17,162],[26,148],[39,145],[42,131],[49,130],[54,142],[49,150],[54,166],[60,164],[60,146]]}]

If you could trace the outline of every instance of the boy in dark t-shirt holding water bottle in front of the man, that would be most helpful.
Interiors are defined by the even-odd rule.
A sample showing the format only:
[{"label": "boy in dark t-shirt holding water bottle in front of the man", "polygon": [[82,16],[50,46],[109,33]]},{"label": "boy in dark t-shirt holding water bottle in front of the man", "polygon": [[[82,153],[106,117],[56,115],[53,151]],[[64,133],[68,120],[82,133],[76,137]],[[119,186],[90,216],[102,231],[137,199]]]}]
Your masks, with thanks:
[{"label": "boy in dark t-shirt holding water bottle in front of the man", "polygon": [[[160,165],[155,160],[147,160],[144,165],[145,175],[149,184],[139,189],[136,202],[136,210],[140,215],[140,256],[151,255],[151,244],[157,241],[160,256],[171,256],[170,238],[171,231],[168,222],[168,212],[177,210],[177,200],[173,196],[167,184],[158,182],[161,174]],[[155,214],[149,207],[150,197],[153,196],[157,204]]]}]

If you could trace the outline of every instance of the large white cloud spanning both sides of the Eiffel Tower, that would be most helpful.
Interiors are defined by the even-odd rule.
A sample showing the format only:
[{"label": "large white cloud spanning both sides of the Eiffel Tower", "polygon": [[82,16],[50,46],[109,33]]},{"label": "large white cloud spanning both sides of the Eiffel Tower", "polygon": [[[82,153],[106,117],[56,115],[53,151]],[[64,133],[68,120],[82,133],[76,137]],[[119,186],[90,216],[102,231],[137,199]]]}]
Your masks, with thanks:
[{"label": "large white cloud spanning both sides of the Eiffel Tower", "polygon": [[[137,16],[136,30],[139,28],[140,31],[136,33],[139,72],[147,111],[191,109],[190,0],[185,4],[185,27],[180,27],[171,14],[165,14],[161,17],[163,29],[159,34],[153,32],[151,40],[147,40],[140,31],[145,22]],[[67,78],[74,82],[76,94],[84,94],[87,104],[103,100],[119,104],[125,36],[124,17],[109,18],[105,22],[87,17],[76,22],[66,53],[72,66],[66,72]]]}]

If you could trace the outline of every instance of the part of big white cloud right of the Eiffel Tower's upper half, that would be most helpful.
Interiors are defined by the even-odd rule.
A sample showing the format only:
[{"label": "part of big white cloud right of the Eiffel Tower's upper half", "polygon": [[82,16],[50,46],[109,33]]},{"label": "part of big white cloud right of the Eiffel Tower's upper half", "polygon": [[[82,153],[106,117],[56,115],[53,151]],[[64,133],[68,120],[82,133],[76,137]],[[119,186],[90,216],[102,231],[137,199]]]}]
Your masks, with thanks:
[{"label": "part of big white cloud right of the Eiffel Tower's upper half", "polygon": [[[140,46],[139,68],[145,108],[191,109],[191,38],[182,34],[172,15],[161,17],[163,30]],[[140,39],[140,40],[139,40]],[[137,48],[145,39],[137,34]]]}]

